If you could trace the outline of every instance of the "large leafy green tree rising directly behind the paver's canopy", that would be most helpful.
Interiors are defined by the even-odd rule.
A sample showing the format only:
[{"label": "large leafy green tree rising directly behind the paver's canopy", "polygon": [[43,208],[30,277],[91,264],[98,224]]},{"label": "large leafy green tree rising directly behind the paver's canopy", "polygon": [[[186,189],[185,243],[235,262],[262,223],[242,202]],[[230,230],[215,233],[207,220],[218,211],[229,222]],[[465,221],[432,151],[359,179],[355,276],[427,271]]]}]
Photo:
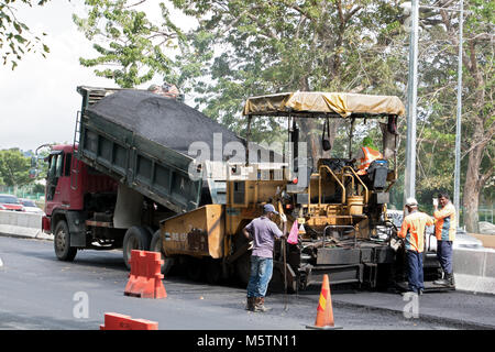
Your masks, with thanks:
[{"label": "large leafy green tree rising directly behind the paver's canopy", "polygon": [[[249,96],[295,90],[402,95],[404,76],[395,73],[405,61],[400,53],[387,53],[383,40],[397,26],[399,10],[394,2],[174,3],[200,23],[190,33],[191,51],[209,67],[210,80],[195,87],[198,107],[240,134],[246,124],[240,111]],[[321,155],[322,121],[299,124],[316,161]],[[276,119],[257,119],[253,130],[255,140],[268,142],[282,133]]]}]

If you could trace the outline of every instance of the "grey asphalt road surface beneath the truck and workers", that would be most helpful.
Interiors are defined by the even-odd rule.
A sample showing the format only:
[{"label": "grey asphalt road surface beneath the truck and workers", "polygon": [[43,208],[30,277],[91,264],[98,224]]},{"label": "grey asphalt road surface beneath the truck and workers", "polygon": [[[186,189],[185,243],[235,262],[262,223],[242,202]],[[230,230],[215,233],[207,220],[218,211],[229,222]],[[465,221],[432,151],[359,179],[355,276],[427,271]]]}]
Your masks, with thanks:
[{"label": "grey asphalt road surface beneath the truck and workers", "polygon": [[[272,294],[266,298],[272,310],[254,314],[244,310],[245,288],[177,275],[164,279],[164,299],[128,297],[129,272],[120,251],[79,251],[66,263],[44,240],[0,237],[0,258],[3,330],[98,330],[105,312],[157,321],[161,330],[306,330],[315,322],[319,299],[319,289],[289,295],[285,310],[286,297]],[[429,294],[419,297],[415,311],[400,295],[332,286],[332,301],[336,324],[344,330],[495,328],[493,296]]]}]

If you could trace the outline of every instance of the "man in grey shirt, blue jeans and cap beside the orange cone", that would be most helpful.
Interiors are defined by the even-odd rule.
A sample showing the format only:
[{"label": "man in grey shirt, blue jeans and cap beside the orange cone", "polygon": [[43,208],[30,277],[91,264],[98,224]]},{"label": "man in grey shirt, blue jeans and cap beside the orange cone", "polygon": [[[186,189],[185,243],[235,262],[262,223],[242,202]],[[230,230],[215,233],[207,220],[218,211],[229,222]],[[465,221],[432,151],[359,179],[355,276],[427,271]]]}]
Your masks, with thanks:
[{"label": "man in grey shirt, blue jeans and cap beside the orange cone", "polygon": [[[278,215],[283,222],[283,230],[273,222]],[[266,311],[264,306],[266,289],[273,273],[273,248],[275,239],[282,238],[287,232],[287,218],[284,213],[275,211],[273,205],[263,207],[263,216],[252,220],[243,230],[244,237],[253,241],[251,254],[251,274],[248,284],[246,310]]]}]

